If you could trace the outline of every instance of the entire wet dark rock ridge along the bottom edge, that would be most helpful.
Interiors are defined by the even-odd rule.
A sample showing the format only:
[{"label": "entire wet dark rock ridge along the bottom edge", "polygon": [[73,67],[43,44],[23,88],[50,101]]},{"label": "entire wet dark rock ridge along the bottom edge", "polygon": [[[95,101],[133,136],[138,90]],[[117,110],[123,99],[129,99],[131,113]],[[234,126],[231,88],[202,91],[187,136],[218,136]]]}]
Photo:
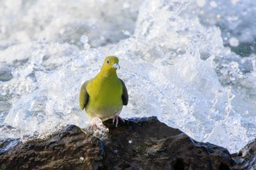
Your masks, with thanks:
[{"label": "entire wet dark rock ridge along the bottom edge", "polygon": [[[104,122],[105,139],[67,125],[48,139],[17,142],[0,150],[0,169],[253,169],[256,142],[230,155],[217,145],[194,139],[157,117]],[[13,139],[12,139],[13,140]],[[7,143],[7,142],[6,142]],[[9,142],[10,143],[10,142]],[[8,144],[8,143],[7,143]],[[5,146],[4,142],[0,147]]]}]

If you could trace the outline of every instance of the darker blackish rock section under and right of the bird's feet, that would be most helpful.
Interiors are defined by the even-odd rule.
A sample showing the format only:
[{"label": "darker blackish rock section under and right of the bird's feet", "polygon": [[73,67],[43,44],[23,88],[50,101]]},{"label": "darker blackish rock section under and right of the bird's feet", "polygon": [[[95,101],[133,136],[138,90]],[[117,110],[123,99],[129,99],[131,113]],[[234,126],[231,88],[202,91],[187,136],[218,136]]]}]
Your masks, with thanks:
[{"label": "darker blackish rock section under and right of the bird's feet", "polygon": [[110,129],[104,160],[109,169],[225,170],[233,163],[225,148],[196,142],[156,117],[129,121],[118,128],[110,121],[104,124]]}]

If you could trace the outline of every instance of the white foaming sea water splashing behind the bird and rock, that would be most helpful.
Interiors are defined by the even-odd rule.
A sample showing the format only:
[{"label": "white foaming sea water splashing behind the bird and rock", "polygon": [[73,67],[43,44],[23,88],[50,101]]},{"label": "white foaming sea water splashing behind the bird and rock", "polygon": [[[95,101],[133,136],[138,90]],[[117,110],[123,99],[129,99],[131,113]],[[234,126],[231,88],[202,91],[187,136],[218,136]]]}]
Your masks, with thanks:
[{"label": "white foaming sea water splashing behind the bird and rock", "polygon": [[256,136],[256,2],[0,1],[0,138],[86,128],[80,86],[116,55],[129,104],[238,152]]}]

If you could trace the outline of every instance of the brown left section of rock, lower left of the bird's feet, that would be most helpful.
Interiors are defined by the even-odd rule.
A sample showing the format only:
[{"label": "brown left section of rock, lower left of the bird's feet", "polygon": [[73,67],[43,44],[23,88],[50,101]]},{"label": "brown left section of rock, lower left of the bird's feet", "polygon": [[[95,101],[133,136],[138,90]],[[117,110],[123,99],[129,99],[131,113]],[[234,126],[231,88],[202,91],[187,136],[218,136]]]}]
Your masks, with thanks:
[{"label": "brown left section of rock, lower left of the bird's feet", "polygon": [[100,140],[68,125],[46,140],[19,143],[0,154],[1,169],[98,169]]}]

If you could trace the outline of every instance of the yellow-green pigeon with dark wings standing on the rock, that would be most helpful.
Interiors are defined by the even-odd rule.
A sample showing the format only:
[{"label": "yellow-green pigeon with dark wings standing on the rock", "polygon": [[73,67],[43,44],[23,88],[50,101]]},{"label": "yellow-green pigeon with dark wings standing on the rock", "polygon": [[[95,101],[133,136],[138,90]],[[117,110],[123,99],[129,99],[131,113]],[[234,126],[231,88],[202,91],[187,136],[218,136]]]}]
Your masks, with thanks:
[{"label": "yellow-green pigeon with dark wings standing on the rock", "polygon": [[118,78],[117,69],[120,69],[119,59],[112,55],[106,57],[99,74],[83,82],[79,95],[80,109],[85,109],[87,116],[99,117],[102,122],[112,118],[116,127],[118,119],[124,121],[119,115],[129,100],[127,87]]}]

